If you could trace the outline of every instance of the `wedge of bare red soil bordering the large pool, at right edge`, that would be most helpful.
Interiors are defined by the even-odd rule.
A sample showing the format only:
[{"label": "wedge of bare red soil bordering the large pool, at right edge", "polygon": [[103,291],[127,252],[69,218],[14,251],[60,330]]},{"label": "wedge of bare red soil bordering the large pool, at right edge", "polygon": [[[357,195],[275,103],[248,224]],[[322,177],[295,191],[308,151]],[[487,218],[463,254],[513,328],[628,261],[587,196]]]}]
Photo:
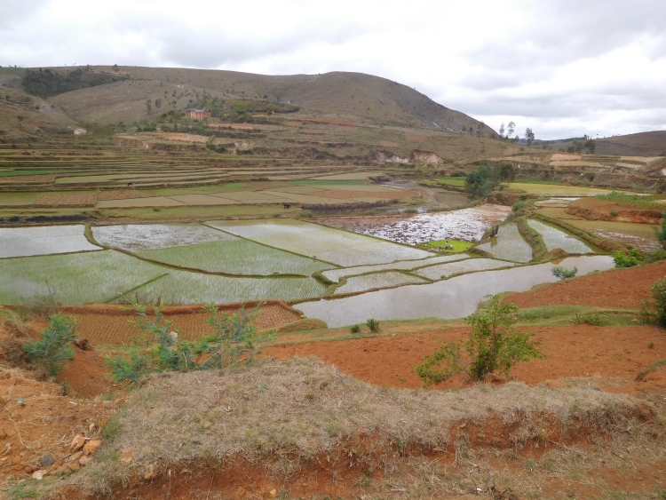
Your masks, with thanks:
[{"label": "wedge of bare red soil bordering the large pool, at right edge", "polygon": [[507,300],[519,307],[570,304],[639,308],[642,298],[651,296],[653,283],[664,276],[666,261],[551,283],[536,290],[513,294]]}]

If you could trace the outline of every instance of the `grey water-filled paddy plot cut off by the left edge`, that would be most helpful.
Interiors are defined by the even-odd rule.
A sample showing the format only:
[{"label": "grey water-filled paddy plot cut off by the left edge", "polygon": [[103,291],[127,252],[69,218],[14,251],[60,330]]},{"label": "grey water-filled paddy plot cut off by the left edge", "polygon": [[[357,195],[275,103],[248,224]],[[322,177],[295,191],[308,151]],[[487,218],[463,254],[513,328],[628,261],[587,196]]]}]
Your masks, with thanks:
[{"label": "grey water-filled paddy plot cut off by the left edge", "polygon": [[0,228],[0,258],[101,250],[86,240],[84,230],[81,225],[3,227]]}]

